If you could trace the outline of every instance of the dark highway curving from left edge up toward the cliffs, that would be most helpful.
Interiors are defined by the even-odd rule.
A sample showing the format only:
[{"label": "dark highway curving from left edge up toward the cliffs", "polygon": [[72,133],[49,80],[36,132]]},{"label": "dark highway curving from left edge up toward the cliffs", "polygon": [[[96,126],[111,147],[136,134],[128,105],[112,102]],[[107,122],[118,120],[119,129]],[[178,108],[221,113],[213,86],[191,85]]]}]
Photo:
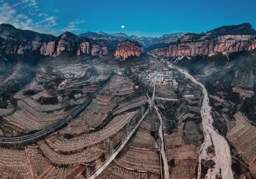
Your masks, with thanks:
[{"label": "dark highway curving from left edge up toward the cliffs", "polygon": [[86,102],[81,104],[77,109],[75,109],[71,114],[69,114],[67,117],[63,118],[62,120],[58,121],[57,123],[54,123],[50,127],[45,128],[44,130],[35,132],[34,134],[28,134],[25,136],[19,136],[19,137],[0,137],[0,144],[4,143],[19,143],[19,142],[25,142],[30,141],[32,139],[36,139],[38,137],[46,136],[48,134],[51,134],[52,132],[56,131],[57,129],[61,128],[65,123],[72,120],[74,117],[76,117],[79,113],[81,113],[93,100],[93,98],[96,97],[96,95],[101,91],[102,88],[111,80],[115,72],[112,72],[112,74],[104,81],[104,83],[96,89],[96,91],[93,92],[92,97],[90,97]]}]

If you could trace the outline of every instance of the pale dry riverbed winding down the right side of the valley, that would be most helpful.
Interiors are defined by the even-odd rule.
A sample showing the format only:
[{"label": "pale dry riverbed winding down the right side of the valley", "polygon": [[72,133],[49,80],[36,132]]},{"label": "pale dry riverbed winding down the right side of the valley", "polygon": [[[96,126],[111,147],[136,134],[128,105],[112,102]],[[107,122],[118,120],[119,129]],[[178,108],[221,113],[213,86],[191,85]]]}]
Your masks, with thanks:
[{"label": "pale dry riverbed winding down the right side of the valley", "polygon": [[[221,175],[222,178],[225,179],[233,179],[234,176],[232,174],[232,160],[230,155],[230,148],[226,139],[218,134],[214,127],[212,126],[212,115],[211,115],[211,106],[209,105],[209,97],[205,86],[196,81],[196,79],[190,75],[186,70],[179,68],[178,66],[174,66],[171,63],[168,63],[170,68],[174,68],[184,74],[188,79],[195,82],[202,88],[202,92],[204,95],[204,99],[202,101],[201,107],[201,116],[202,116],[202,125],[204,128],[204,143],[202,143],[200,147],[199,153],[199,163],[198,163],[198,175],[197,178],[201,178],[201,163],[202,160],[213,160],[215,162],[215,166],[212,169],[208,169],[205,178],[216,179],[216,176]],[[207,154],[207,148],[209,146],[214,146],[215,155],[212,157]]]}]

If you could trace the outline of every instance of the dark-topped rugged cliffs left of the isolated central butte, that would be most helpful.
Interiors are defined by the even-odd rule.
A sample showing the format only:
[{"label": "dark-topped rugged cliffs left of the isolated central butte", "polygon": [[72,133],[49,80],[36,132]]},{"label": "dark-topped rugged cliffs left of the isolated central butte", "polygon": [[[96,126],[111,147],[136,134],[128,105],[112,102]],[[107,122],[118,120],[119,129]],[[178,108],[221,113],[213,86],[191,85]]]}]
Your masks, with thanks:
[{"label": "dark-topped rugged cliffs left of the isolated central butte", "polygon": [[106,40],[90,40],[68,32],[56,37],[0,24],[2,54],[59,56],[68,51],[77,55],[103,56],[108,54],[107,45]]}]

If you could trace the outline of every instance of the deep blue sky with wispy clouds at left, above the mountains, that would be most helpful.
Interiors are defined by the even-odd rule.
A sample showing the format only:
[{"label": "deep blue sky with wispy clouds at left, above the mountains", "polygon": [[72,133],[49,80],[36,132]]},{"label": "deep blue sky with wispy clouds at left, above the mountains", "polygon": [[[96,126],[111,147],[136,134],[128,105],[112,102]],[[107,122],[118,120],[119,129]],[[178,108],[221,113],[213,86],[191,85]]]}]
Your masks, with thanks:
[{"label": "deep blue sky with wispy clouds at left, above the mountains", "polygon": [[52,35],[104,31],[154,37],[243,22],[256,27],[255,7],[255,0],[0,0],[0,24]]}]

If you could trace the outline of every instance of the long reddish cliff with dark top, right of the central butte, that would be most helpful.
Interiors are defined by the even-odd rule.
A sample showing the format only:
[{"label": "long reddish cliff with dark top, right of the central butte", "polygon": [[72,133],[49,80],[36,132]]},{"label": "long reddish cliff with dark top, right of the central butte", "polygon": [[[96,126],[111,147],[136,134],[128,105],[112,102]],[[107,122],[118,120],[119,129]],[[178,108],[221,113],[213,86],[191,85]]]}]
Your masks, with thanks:
[{"label": "long reddish cliff with dark top, right of the central butte", "polygon": [[251,24],[223,26],[207,33],[187,33],[169,47],[150,51],[164,58],[177,56],[211,56],[217,52],[241,52],[256,49],[256,31]]}]

